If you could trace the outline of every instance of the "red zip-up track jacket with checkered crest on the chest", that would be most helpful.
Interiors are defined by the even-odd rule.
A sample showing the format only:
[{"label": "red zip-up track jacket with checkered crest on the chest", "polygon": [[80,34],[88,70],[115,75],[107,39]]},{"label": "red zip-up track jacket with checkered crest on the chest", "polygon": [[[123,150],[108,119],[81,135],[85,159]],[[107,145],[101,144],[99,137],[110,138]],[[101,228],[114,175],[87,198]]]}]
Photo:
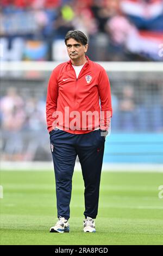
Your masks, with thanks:
[{"label": "red zip-up track jacket with checkered crest on the chest", "polygon": [[[54,127],[74,134],[91,132],[98,127],[108,130],[112,116],[108,75],[101,65],[86,58],[78,78],[71,60],[53,70],[46,101],[48,131]],[[96,117],[92,113],[96,113]]]}]

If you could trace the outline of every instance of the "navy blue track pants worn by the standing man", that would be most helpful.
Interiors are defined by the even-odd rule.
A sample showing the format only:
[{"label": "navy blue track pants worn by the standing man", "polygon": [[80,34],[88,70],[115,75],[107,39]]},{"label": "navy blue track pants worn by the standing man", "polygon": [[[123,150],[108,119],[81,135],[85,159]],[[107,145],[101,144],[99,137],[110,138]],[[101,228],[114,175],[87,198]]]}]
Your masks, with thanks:
[{"label": "navy blue track pants worn by the standing man", "polygon": [[50,135],[54,163],[58,217],[70,218],[72,175],[78,155],[84,179],[84,216],[96,218],[105,137],[101,130],[75,135],[53,130]]}]

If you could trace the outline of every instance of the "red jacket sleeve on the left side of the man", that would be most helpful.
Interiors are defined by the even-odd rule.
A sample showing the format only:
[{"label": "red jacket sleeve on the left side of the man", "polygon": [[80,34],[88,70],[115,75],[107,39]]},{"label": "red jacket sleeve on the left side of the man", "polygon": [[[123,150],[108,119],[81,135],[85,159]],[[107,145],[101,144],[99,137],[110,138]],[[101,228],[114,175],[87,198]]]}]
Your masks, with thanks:
[{"label": "red jacket sleeve on the left side of the man", "polygon": [[51,74],[51,77],[49,78],[48,88],[47,88],[46,120],[47,120],[48,131],[51,131],[52,129],[54,129],[53,122],[55,118],[53,117],[53,115],[57,110],[57,99],[58,99],[57,70],[54,69]]}]

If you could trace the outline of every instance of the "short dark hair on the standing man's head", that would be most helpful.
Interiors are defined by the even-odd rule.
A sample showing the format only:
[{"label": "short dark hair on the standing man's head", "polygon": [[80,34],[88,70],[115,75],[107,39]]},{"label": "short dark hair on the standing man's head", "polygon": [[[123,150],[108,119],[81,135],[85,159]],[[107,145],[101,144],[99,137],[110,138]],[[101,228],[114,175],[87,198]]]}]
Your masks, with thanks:
[{"label": "short dark hair on the standing man's head", "polygon": [[78,30],[68,31],[65,36],[65,44],[67,43],[67,40],[70,38],[73,38],[77,42],[81,42],[82,45],[87,44],[87,37],[82,31],[78,31]]}]

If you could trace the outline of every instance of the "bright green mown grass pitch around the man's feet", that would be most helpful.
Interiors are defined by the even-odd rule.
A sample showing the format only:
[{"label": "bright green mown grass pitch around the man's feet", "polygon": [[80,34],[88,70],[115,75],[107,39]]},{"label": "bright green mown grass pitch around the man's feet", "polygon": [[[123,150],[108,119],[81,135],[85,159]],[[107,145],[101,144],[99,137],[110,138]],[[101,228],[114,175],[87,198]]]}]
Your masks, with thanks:
[{"label": "bright green mown grass pitch around the man's feet", "polygon": [[163,245],[162,173],[102,172],[96,233],[83,232],[84,184],[74,172],[70,233],[57,221],[53,171],[2,171],[1,245]]}]

